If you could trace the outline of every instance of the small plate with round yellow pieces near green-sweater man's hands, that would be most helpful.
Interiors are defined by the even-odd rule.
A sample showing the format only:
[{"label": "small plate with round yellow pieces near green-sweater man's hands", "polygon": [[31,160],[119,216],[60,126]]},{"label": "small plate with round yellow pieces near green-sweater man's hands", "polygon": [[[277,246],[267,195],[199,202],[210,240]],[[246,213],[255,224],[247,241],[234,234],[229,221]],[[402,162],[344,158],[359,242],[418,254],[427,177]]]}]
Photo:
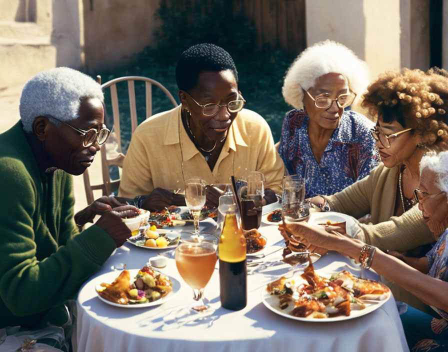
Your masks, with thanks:
[{"label": "small plate with round yellow pieces near green-sweater man's hands", "polygon": [[155,225],[143,227],[126,240],[137,247],[146,249],[167,249],[179,244],[180,233],[157,228]]}]

